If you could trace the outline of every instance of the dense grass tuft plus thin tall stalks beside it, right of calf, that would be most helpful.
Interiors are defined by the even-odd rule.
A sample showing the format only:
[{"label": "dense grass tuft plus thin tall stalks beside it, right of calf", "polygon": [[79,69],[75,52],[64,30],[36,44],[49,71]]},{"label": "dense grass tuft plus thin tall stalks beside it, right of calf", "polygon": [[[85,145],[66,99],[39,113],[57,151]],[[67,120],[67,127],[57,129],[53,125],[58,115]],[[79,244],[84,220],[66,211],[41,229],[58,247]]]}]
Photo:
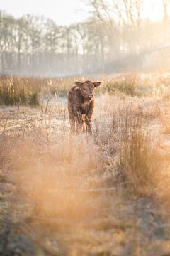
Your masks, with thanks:
[{"label": "dense grass tuft plus thin tall stalks beside it, right of calf", "polygon": [[[117,186],[140,196],[151,195],[157,186],[162,157],[147,135],[146,120],[133,105],[113,111],[113,119],[96,128],[96,140],[106,158]],[[113,163],[113,164],[112,164]]]}]

